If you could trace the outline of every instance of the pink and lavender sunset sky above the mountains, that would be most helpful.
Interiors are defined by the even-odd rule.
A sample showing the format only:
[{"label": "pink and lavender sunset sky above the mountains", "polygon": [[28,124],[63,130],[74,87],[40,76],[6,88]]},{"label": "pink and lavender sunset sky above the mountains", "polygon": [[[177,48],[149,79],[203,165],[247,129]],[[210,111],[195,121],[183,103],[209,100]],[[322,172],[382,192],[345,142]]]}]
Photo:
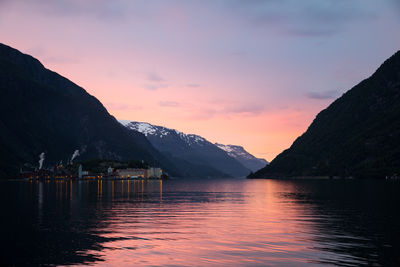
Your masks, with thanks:
[{"label": "pink and lavender sunset sky above the mountains", "polygon": [[0,0],[0,42],[118,119],[270,161],[400,49],[400,0]]}]

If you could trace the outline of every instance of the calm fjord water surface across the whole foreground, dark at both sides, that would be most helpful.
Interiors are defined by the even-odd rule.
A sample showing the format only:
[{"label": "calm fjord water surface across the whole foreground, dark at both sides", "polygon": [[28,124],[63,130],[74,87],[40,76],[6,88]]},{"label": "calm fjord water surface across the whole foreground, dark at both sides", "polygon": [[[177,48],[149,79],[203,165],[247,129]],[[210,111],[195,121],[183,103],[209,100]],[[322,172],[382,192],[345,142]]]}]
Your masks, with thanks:
[{"label": "calm fjord water surface across the whole foreground, dark at both sides", "polygon": [[1,182],[0,198],[8,265],[400,266],[398,181]]}]

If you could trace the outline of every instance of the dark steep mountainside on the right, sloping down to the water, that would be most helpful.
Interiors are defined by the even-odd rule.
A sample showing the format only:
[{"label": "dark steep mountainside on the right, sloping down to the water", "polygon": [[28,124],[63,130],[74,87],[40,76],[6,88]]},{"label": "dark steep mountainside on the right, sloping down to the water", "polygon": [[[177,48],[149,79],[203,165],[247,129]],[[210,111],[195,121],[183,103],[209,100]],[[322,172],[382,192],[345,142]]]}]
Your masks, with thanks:
[{"label": "dark steep mountainside on the right, sloping down to the water", "polygon": [[400,174],[400,51],[251,178]]}]

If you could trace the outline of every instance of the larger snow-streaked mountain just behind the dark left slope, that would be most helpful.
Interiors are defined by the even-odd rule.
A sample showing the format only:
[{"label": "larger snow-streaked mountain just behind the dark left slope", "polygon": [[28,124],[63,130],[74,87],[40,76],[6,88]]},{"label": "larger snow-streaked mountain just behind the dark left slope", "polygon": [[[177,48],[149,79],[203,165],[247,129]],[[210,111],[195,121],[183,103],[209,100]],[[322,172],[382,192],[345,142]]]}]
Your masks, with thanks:
[{"label": "larger snow-streaked mountain just behind the dark left slope", "polygon": [[150,143],[171,158],[180,172],[190,177],[243,177],[250,173],[240,162],[201,136],[145,122],[120,121],[143,133]]}]

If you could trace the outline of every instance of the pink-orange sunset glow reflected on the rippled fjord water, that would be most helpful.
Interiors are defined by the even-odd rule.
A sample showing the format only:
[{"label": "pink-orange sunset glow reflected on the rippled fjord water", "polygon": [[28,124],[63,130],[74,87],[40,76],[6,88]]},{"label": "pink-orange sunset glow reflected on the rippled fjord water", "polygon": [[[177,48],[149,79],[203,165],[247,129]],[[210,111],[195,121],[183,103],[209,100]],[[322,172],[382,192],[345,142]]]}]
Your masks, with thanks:
[{"label": "pink-orange sunset glow reflected on the rippled fjord water", "polygon": [[[109,249],[100,252],[99,265],[279,265],[295,258],[306,266],[315,253],[305,234],[313,227],[310,211],[290,198],[298,190],[291,183],[209,183],[164,202],[163,181],[138,183],[142,200],[159,191],[160,201],[113,205],[112,223],[100,232],[116,239],[104,244]],[[122,188],[119,195],[124,197]]]}]

